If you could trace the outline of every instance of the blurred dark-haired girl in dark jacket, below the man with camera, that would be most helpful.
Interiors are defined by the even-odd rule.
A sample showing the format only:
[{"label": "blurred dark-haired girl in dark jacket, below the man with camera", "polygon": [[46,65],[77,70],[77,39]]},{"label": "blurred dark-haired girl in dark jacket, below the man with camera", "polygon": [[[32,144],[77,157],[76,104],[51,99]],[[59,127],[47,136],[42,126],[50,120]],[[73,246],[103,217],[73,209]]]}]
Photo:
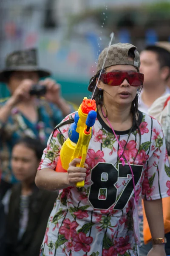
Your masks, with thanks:
[{"label": "blurred dark-haired girl in dark jacket, below the man with camera", "polygon": [[34,183],[43,148],[39,140],[25,137],[12,150],[12,171],[20,183],[8,190],[2,201],[7,215],[4,256],[39,255],[58,194],[38,189]]}]

